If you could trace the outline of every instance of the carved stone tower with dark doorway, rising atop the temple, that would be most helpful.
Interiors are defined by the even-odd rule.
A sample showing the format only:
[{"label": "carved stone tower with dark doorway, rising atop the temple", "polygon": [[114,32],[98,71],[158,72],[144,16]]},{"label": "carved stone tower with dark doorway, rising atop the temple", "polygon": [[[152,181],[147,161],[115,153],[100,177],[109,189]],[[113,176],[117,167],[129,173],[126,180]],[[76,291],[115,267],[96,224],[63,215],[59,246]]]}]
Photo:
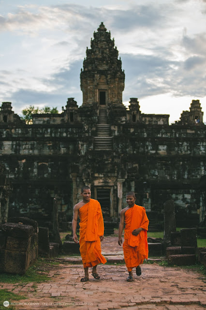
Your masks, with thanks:
[{"label": "carved stone tower with dark doorway, rising atop the temple", "polygon": [[87,48],[80,75],[83,105],[122,105],[125,74],[114,45],[114,39],[111,40],[110,32],[106,31],[102,22],[98,31],[94,32],[94,39],[91,39],[91,48]]}]

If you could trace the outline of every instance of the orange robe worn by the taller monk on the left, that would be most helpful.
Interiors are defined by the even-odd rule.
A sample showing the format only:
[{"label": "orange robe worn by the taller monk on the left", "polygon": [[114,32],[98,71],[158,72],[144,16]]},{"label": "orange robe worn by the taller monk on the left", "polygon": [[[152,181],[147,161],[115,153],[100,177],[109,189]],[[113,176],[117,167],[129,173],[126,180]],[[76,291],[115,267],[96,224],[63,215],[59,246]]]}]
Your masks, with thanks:
[{"label": "orange robe worn by the taller monk on the left", "polygon": [[101,254],[100,236],[104,233],[104,225],[100,203],[90,199],[79,209],[79,217],[79,245],[84,268],[106,263]]}]

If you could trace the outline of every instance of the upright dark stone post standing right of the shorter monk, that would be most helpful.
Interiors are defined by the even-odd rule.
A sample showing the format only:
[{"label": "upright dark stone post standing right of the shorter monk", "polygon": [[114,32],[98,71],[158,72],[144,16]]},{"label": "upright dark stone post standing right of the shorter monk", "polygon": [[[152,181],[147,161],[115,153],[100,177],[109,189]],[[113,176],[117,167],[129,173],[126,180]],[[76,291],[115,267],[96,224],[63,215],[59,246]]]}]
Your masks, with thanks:
[{"label": "upright dark stone post standing right of the shorter monk", "polygon": [[171,233],[176,232],[175,206],[173,200],[164,203],[164,237],[163,252],[170,246]]}]

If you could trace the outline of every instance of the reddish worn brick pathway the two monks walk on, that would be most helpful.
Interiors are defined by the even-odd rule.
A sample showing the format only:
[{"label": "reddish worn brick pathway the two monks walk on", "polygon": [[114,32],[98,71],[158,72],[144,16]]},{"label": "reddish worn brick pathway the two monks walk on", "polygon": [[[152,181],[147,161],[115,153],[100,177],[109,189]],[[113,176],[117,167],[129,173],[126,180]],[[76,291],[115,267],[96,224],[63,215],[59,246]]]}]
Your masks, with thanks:
[{"label": "reddish worn brick pathway the two monks walk on", "polygon": [[[102,248],[106,257],[113,256],[116,251],[117,257],[121,258],[122,248],[117,245],[116,237],[106,237]],[[33,283],[2,286],[28,297],[17,302],[22,303],[15,305],[18,310],[206,309],[206,279],[196,271],[147,263],[142,265],[142,276],[127,282],[124,264],[105,264],[98,266],[100,280],[93,279],[89,270],[89,281],[83,283],[80,282],[83,266],[76,263],[65,261],[55,266],[52,279],[35,283],[35,289]]]}]

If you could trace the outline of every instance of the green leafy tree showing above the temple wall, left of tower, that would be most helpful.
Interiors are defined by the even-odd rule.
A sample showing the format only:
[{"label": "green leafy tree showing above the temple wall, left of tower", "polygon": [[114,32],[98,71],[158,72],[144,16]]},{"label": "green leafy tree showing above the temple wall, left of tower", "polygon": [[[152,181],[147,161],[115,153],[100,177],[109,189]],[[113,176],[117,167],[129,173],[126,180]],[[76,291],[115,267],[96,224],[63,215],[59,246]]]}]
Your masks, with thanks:
[{"label": "green leafy tree showing above the temple wall, left of tower", "polygon": [[23,116],[21,116],[21,119],[26,122],[26,124],[32,124],[33,123],[33,114],[43,114],[43,113],[59,113],[57,107],[44,107],[40,109],[39,107],[34,108],[34,106],[29,106],[26,109],[23,109],[22,111]]}]

